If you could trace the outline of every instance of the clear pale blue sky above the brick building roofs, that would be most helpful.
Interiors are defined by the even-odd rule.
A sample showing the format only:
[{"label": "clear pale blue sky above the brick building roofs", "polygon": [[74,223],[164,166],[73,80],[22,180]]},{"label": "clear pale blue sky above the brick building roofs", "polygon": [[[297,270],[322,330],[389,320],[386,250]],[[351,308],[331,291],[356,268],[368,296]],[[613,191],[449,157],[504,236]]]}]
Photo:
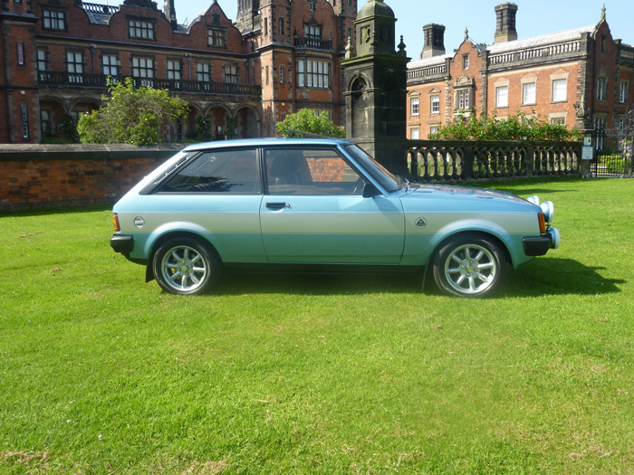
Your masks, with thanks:
[{"label": "clear pale blue sky above the brick building roofs", "polygon": [[[308,1],[308,0],[293,0]],[[157,0],[159,8],[161,0]],[[226,16],[235,22],[238,0],[217,0]],[[118,5],[110,0],[110,5]],[[205,11],[212,0],[175,0],[178,23],[190,23],[197,14]],[[412,60],[418,60],[423,50],[423,25],[444,24],[445,49],[452,52],[465,40],[465,28],[469,38],[476,43],[493,43],[495,33],[495,5],[504,0],[385,0],[397,17],[397,44],[399,36],[407,45]],[[606,18],[615,39],[634,44],[634,0],[515,0],[518,6],[516,30],[519,39],[556,33],[580,26],[597,24],[601,8],[605,4]],[[366,0],[359,0],[359,7]],[[395,45],[396,47],[396,45]]]}]

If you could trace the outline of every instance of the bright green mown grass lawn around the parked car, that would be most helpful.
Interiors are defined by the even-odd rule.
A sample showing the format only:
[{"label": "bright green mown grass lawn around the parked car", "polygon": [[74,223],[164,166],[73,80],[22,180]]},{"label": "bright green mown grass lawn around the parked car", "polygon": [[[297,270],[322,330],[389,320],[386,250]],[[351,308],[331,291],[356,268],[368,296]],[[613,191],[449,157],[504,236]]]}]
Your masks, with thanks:
[{"label": "bright green mown grass lawn around the parked car", "polygon": [[0,473],[633,473],[634,182],[487,185],[562,247],[494,299],[412,277],[162,293],[108,209],[0,216]]}]

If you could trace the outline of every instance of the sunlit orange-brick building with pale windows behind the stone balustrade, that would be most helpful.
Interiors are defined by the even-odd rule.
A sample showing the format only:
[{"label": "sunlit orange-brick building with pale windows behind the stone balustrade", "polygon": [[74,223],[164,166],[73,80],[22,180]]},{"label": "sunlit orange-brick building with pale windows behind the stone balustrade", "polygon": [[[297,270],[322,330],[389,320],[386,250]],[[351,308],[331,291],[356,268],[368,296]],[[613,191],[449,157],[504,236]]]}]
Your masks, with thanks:
[{"label": "sunlit orange-brick building with pale windows behind the stone balustrade", "polygon": [[408,63],[408,138],[427,138],[473,114],[504,119],[524,112],[568,128],[582,128],[585,116],[597,129],[628,127],[634,47],[613,39],[605,8],[598,24],[524,40],[517,39],[516,12],[517,5],[497,5],[494,44],[475,43],[465,32],[449,54],[445,26],[423,27],[423,52]]}]

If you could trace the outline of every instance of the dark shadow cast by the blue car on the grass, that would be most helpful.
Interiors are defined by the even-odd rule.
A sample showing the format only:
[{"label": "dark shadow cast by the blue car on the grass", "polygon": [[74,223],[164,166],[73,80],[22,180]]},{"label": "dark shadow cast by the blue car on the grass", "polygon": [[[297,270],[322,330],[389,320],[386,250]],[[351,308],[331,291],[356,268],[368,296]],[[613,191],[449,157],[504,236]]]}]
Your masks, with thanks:
[{"label": "dark shadow cast by the blue car on the grass", "polygon": [[[508,268],[502,286],[493,298],[543,297],[547,295],[597,295],[620,292],[626,280],[604,278],[605,268],[588,267],[572,259],[535,259],[517,271]],[[346,295],[376,293],[420,293],[419,273],[384,274],[280,274],[226,272],[214,293],[244,295],[282,293],[296,295]],[[427,275],[425,295],[441,295]]]}]

